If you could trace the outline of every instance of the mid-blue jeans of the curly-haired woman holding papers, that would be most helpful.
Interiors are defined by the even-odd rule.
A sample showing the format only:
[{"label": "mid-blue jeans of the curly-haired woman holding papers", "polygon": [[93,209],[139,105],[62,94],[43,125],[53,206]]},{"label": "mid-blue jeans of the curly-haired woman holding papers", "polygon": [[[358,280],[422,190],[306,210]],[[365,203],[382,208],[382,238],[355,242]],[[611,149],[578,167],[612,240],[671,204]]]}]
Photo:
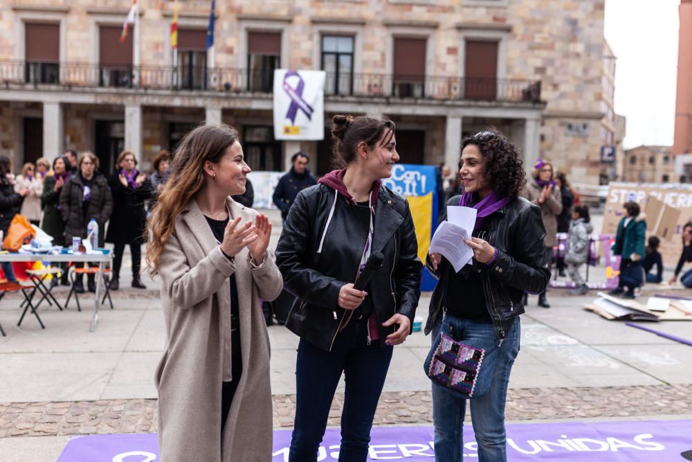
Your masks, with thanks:
[{"label": "mid-blue jeans of the curly-haired woman holding papers", "polygon": [[[434,340],[441,328],[439,319],[432,328]],[[504,429],[504,405],[507,399],[507,383],[514,359],[519,353],[519,318],[500,341],[495,337],[492,323],[459,319],[447,314],[445,323],[451,327],[451,336],[457,341],[468,341],[473,346],[498,348],[490,361],[484,359],[482,368],[493,367],[488,393],[471,398],[471,423],[478,443],[480,462],[507,461],[507,433]],[[435,425],[435,461],[458,462],[464,459],[462,429],[466,416],[466,399],[458,398],[438,384],[432,384],[432,421]]]}]

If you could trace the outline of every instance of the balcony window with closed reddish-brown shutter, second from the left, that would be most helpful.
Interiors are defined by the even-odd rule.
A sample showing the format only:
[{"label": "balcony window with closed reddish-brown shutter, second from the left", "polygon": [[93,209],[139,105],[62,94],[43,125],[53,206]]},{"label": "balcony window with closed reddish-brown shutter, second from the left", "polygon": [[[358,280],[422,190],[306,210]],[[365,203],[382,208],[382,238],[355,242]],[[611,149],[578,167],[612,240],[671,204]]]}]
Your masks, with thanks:
[{"label": "balcony window with closed reddish-brown shutter, second from the left", "polygon": [[132,36],[130,25],[125,42],[120,43],[120,26],[99,28],[99,85],[102,87],[131,87],[132,85]]}]

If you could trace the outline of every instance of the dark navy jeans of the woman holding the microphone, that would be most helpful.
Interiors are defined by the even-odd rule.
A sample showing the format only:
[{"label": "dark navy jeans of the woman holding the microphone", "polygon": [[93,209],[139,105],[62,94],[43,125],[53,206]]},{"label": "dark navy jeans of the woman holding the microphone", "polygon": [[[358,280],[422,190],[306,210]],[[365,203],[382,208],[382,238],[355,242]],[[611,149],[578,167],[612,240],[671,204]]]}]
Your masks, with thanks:
[{"label": "dark navy jeans of the woman holding the microphone", "polygon": [[367,321],[351,321],[336,335],[331,352],[300,339],[295,363],[295,422],[289,462],[315,462],[327,428],[341,373],[346,390],[341,413],[339,461],[367,459],[370,428],[392,359],[382,340],[367,345]]}]

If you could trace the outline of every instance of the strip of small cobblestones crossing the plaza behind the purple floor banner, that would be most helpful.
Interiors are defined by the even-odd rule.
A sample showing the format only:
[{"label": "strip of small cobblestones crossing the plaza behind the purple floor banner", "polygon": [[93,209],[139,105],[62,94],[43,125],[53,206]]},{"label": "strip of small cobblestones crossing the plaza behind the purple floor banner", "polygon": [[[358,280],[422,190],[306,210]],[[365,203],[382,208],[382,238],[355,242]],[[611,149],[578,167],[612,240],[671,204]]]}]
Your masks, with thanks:
[{"label": "strip of small cobblestones crossing the plaza behind the purple floor banner", "polygon": [[[343,393],[337,393],[329,425],[338,426]],[[274,426],[293,427],[295,396],[274,396]],[[692,414],[692,385],[515,389],[507,420],[631,418]],[[468,416],[467,416],[468,417]],[[432,423],[427,391],[383,393],[374,425]],[[0,403],[0,438],[156,432],[156,400]]]}]

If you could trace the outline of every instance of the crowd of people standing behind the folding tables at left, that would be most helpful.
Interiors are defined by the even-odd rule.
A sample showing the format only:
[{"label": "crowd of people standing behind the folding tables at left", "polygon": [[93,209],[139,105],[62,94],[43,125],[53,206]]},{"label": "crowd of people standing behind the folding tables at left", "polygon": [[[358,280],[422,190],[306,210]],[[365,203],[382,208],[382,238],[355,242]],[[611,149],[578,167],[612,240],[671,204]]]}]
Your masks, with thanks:
[{"label": "crowd of people standing behind the folding tables at left", "polygon": [[[0,155],[0,232],[5,236],[12,218],[19,213],[51,236],[53,245],[69,247],[73,238],[87,238],[87,226],[93,219],[100,230],[98,246],[110,242],[114,247],[110,289],[120,286],[126,245],[132,258],[132,287],[145,289],[140,268],[147,209],[156,204],[167,181],[170,160],[170,152],[162,150],[154,161],[154,172],[146,175],[137,170],[134,152],[121,152],[113,175],[107,178],[93,152],[66,150],[52,163],[45,157],[24,163],[21,174],[15,177],[10,159]],[[63,271],[51,283],[70,285],[67,266],[57,265]],[[10,263],[2,263],[2,269],[7,281],[16,281]],[[84,292],[82,275],[75,275],[74,284],[76,292]],[[95,292],[94,274],[87,274],[86,286]]]}]

